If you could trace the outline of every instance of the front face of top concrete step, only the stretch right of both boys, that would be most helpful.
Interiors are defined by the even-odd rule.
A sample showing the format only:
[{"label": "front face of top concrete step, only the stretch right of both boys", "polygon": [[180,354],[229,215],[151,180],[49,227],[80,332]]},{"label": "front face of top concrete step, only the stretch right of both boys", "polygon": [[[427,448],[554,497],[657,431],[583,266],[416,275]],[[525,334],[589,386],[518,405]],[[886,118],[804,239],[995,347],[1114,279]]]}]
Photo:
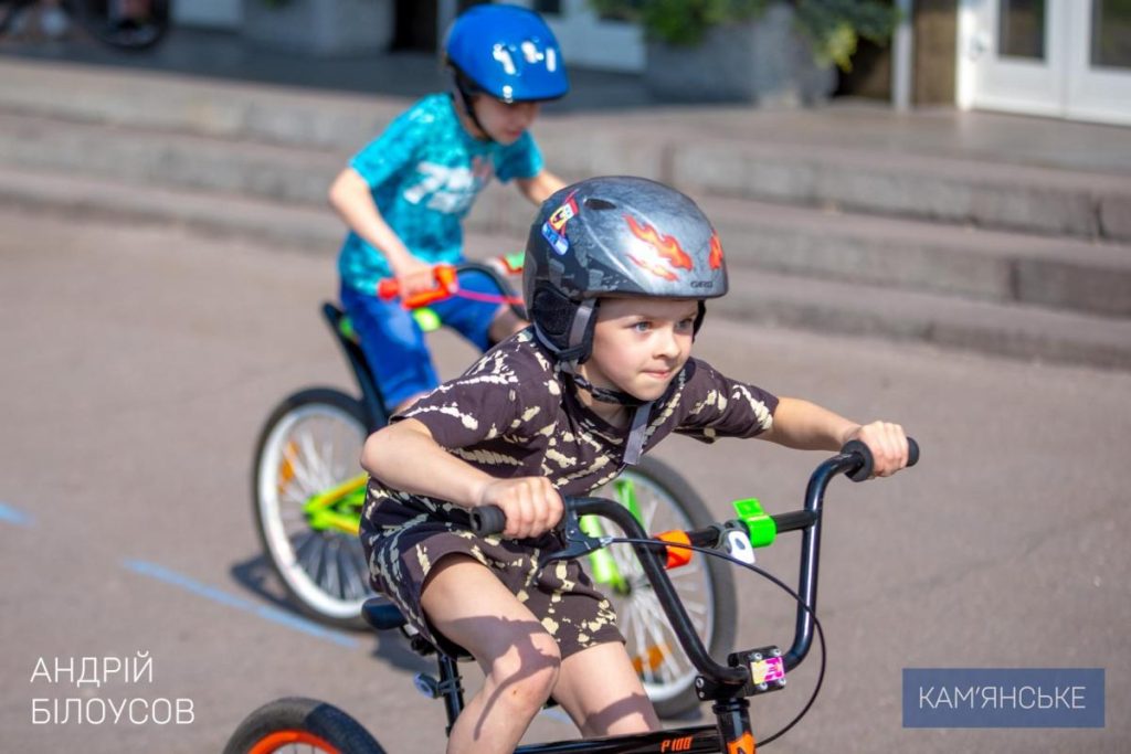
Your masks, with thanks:
[{"label": "front face of top concrete step, only the stretch right of both boys", "polygon": [[705,193],[1131,241],[1131,179],[1125,175],[716,140],[682,146],[672,155],[671,176],[677,185]]}]

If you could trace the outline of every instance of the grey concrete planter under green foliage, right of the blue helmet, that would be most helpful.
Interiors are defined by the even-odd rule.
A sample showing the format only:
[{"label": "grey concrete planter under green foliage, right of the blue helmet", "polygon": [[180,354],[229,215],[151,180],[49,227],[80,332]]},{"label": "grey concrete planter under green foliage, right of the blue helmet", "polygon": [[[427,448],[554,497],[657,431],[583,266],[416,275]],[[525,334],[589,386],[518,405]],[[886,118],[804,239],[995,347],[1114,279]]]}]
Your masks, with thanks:
[{"label": "grey concrete planter under green foliage, right of the blue helmet", "polygon": [[823,102],[837,86],[834,67],[813,61],[793,9],[780,5],[754,20],[716,26],[696,46],[648,42],[644,78],[663,99],[780,107]]}]

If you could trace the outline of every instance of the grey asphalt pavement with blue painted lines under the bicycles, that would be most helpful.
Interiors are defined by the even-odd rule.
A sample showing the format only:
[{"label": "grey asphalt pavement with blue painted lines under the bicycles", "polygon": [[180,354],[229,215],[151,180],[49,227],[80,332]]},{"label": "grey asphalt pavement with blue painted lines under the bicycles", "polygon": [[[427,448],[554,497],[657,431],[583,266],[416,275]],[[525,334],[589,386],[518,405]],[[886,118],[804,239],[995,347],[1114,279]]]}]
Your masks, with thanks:
[{"label": "grey asphalt pavement with blue painted lines under the bicycles", "polygon": [[[252,526],[251,456],[271,406],[302,385],[348,387],[318,314],[335,293],[329,259],[81,213],[0,208],[0,748],[217,752],[254,707],[303,694],[389,752],[442,751],[442,710],[411,687],[426,666],[395,636],[296,619]],[[446,374],[472,357],[434,343]],[[918,468],[830,489],[824,688],[771,751],[1131,749],[1131,374],[718,319],[697,353],[782,395],[899,421],[923,447]],[[821,459],[683,439],[657,452],[720,517],[744,496],[798,506]],[[786,543],[761,562],[792,579],[795,556]],[[739,583],[740,645],[787,642],[791,606]],[[77,676],[83,658],[143,656],[153,676],[137,683],[36,673],[41,659],[74,660]],[[909,667],[1104,668],[1106,725],[907,729]],[[815,660],[757,700],[757,730],[792,717],[814,677]],[[192,719],[35,725],[36,704],[69,697],[190,700]],[[546,713],[530,737],[570,730]]]}]

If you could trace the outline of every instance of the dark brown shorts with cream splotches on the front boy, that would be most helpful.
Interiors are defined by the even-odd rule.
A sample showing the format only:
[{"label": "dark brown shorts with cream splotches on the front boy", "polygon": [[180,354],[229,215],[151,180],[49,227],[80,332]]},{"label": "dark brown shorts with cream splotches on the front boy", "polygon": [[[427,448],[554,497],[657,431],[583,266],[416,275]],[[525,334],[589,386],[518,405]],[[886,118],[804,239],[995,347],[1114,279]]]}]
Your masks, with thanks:
[{"label": "dark brown shorts with cream splotches on the front boy", "polygon": [[404,506],[385,502],[368,511],[362,521],[370,583],[444,652],[455,655],[459,648],[433,631],[421,609],[421,592],[437,563],[456,554],[491,569],[556,640],[563,658],[605,642],[623,643],[612,605],[577,561],[554,561],[538,567],[543,548],[561,548],[558,537],[546,536],[533,543],[480,537],[457,522],[428,513],[414,512],[406,518]]}]

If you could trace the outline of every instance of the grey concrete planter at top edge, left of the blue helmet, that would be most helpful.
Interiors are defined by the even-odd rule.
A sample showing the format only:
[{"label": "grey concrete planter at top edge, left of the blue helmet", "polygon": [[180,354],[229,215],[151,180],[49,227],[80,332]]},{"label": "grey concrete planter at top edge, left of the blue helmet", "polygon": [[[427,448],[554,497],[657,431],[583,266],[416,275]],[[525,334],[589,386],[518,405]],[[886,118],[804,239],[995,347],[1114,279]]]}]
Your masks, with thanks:
[{"label": "grey concrete planter at top edge, left of the blue helmet", "polygon": [[275,8],[243,0],[243,36],[275,50],[316,57],[385,52],[394,0],[288,0]]}]

